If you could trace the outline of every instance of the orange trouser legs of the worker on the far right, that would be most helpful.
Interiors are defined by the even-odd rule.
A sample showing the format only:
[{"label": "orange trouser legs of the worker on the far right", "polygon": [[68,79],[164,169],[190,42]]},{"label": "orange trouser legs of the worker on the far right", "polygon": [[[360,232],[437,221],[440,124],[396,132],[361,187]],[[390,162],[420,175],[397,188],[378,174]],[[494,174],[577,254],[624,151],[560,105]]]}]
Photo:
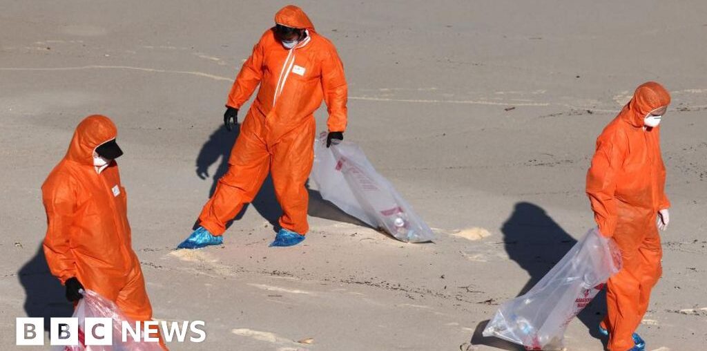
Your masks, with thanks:
[{"label": "orange trouser legs of the worker on the far right", "polygon": [[661,274],[660,238],[655,228],[636,246],[621,246],[623,268],[607,283],[607,318],[609,351],[626,351],[633,347],[633,333],[641,325],[648,309],[650,291]]}]

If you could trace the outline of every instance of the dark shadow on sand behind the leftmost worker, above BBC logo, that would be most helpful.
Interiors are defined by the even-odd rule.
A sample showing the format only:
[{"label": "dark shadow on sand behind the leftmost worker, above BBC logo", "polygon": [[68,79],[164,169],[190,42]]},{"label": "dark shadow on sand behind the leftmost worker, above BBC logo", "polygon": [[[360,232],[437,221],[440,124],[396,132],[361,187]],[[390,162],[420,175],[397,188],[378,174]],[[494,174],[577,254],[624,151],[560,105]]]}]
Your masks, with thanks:
[{"label": "dark shadow on sand behind the leftmost worker, above BBC logo", "polygon": [[17,272],[25,289],[24,309],[28,317],[44,318],[45,333],[49,333],[50,318],[71,317],[74,305],[66,301],[66,289],[49,272],[42,245],[34,257]]}]

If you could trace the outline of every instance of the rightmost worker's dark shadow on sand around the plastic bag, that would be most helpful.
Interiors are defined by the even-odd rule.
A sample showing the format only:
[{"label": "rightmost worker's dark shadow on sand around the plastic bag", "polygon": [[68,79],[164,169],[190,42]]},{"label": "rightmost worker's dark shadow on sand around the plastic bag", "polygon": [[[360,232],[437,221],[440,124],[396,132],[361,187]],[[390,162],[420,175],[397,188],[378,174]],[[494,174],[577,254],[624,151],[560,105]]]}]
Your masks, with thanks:
[{"label": "rightmost worker's dark shadow on sand around the plastic bag", "polygon": [[[513,213],[503,223],[503,243],[506,253],[511,260],[514,260],[520,267],[528,272],[530,280],[520,289],[516,296],[525,294],[544,275],[551,270],[556,263],[577,243],[575,238],[570,236],[559,224],[548,216],[542,207],[530,202],[518,202],[515,204]],[[598,326],[602,320],[602,315],[606,313],[606,294],[604,291],[597,294],[597,297],[580,312],[578,318],[589,329],[590,335],[594,338],[604,338],[598,332]],[[481,345],[492,345],[506,348],[506,350],[522,350],[515,347],[517,345],[490,344],[496,338],[484,338],[481,335],[489,321],[479,323],[474,332],[472,343]],[[492,340],[495,339],[495,340]]]}]

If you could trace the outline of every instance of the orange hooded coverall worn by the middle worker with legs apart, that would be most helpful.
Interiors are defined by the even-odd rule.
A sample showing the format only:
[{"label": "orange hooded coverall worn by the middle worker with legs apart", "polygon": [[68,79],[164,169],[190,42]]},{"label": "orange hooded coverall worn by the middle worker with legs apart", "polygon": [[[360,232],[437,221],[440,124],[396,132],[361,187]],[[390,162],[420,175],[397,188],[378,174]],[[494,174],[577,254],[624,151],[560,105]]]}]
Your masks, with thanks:
[{"label": "orange hooded coverall worn by the middle worker with legs apart", "polygon": [[315,32],[297,6],[282,8],[275,22],[305,28],[308,35],[288,50],[274,28],[267,30],[230,90],[226,105],[240,109],[260,86],[231,151],[228,173],[218,180],[216,192],[199,216],[200,225],[217,236],[257,195],[268,172],[283,209],[280,225],[306,234],[305,182],[314,160],[314,112],[322,99],[329,111],[329,131],[346,129],[346,79],[334,45]]}]

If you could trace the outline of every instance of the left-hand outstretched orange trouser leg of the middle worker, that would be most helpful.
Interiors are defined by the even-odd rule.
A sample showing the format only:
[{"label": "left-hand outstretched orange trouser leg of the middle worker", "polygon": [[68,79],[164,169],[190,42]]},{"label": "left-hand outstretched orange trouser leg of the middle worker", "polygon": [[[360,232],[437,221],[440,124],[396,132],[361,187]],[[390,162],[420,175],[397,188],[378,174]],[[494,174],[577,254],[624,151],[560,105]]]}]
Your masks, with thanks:
[{"label": "left-hand outstretched orange trouser leg of the middle worker", "polygon": [[228,160],[228,172],[218,180],[214,196],[199,215],[199,224],[216,236],[226,231],[243,205],[251,202],[269,170],[267,146],[254,134],[242,130]]}]

